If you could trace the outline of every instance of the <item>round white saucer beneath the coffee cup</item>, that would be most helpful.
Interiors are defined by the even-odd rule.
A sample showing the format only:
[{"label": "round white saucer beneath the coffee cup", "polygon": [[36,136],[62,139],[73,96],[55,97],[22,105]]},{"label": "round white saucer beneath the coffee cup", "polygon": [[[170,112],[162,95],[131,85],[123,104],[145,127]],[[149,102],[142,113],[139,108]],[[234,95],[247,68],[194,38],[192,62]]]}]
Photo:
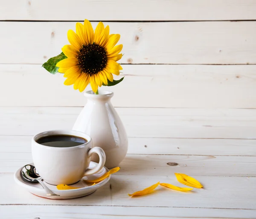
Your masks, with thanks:
[{"label": "round white saucer beneath the coffee cup", "polygon": [[[31,164],[34,165],[33,163]],[[89,168],[96,167],[96,164],[97,163],[91,161]],[[57,195],[60,195],[60,196],[47,196],[41,184],[27,182],[23,180],[22,176],[20,175],[21,168],[22,167],[20,167],[14,174],[15,182],[18,185],[24,187],[30,193],[46,199],[76,199],[83,196],[87,196],[95,192],[99,187],[102,187],[103,185],[105,185],[110,179],[110,176],[108,176],[106,179],[96,183],[95,185],[92,185],[93,183],[86,183],[83,180],[80,180],[76,184],[71,185],[73,187],[79,187],[79,189],[70,189],[70,190],[58,190],[55,185],[51,185],[51,184],[48,184],[47,182],[44,182],[50,190],[52,190]],[[103,167],[102,170],[100,170],[98,173],[95,173],[90,176],[85,176],[83,179],[86,179],[86,180],[97,179],[107,172],[108,172],[108,169],[106,167]]]}]

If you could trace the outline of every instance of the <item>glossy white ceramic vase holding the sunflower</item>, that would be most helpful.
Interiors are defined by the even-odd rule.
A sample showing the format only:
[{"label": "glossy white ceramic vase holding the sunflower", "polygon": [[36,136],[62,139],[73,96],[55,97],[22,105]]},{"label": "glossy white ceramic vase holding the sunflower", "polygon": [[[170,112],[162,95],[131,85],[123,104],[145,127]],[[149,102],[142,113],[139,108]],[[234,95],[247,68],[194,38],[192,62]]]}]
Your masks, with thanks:
[{"label": "glossy white ceramic vase holding the sunflower", "polygon": [[[128,149],[128,138],[119,115],[111,104],[113,92],[93,91],[84,93],[87,104],[80,112],[73,130],[90,135],[93,147],[101,147],[106,154],[105,167],[116,167],[124,158]],[[98,156],[92,161],[99,162]]]}]

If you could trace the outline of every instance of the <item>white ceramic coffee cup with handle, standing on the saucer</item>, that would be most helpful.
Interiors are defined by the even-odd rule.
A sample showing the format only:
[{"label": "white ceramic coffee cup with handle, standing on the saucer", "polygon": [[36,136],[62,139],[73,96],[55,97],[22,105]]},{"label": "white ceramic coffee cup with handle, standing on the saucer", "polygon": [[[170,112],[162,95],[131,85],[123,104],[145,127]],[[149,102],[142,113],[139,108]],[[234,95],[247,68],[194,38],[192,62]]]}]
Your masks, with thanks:
[{"label": "white ceramic coffee cup with handle, standing on the saucer", "polygon": [[[38,144],[38,139],[49,135],[72,135],[87,140],[74,147],[49,147]],[[93,153],[99,155],[99,164],[88,169]],[[49,184],[74,184],[82,177],[99,172],[104,167],[106,156],[100,147],[92,148],[89,135],[74,130],[52,130],[32,138],[32,158],[39,175]]]}]

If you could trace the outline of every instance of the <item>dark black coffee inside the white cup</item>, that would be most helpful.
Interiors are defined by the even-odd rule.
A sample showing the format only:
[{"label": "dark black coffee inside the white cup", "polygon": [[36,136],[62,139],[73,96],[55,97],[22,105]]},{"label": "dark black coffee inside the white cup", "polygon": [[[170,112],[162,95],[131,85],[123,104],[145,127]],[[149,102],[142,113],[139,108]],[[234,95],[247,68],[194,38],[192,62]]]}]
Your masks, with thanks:
[{"label": "dark black coffee inside the white cup", "polygon": [[87,140],[73,135],[49,135],[39,138],[36,142],[49,147],[75,147],[86,143]]}]

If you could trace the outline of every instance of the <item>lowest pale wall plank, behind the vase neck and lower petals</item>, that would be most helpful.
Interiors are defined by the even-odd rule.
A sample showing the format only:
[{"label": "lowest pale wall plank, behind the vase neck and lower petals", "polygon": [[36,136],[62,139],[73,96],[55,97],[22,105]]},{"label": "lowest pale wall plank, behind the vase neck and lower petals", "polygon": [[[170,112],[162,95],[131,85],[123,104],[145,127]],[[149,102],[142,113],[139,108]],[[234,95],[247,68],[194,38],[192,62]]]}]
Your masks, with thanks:
[{"label": "lowest pale wall plank, behind the vase neck and lower petals", "polygon": [[[256,65],[123,65],[116,107],[256,108]],[[0,106],[84,106],[62,74],[41,65],[0,65]],[[121,76],[120,76],[121,77]],[[11,89],[10,89],[11,87]],[[91,89],[90,86],[87,90]],[[129,101],[128,101],[129,100]]]}]

